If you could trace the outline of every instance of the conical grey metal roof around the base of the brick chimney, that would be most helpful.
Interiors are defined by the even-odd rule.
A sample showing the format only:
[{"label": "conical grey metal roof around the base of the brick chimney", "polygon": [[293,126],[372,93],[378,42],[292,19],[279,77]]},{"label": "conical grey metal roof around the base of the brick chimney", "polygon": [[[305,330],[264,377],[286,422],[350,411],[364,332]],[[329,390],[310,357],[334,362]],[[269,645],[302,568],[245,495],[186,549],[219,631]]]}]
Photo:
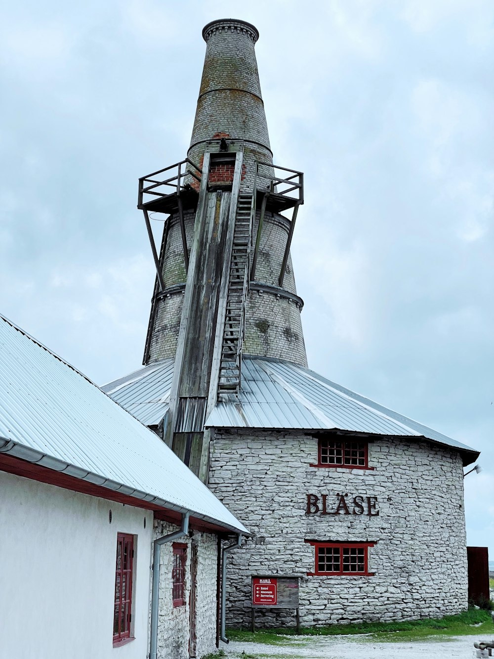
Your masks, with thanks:
[{"label": "conical grey metal roof around the base of the brick chimney", "polygon": [[[159,372],[163,374],[162,384]],[[150,406],[153,424],[168,410],[173,377],[173,360],[155,362],[105,390],[121,405]],[[124,384],[126,383],[126,384]],[[263,357],[242,358],[242,384],[238,397],[217,403],[206,419],[207,427],[278,428],[296,430],[347,430],[366,434],[425,437],[468,452],[472,460],[478,452],[465,444],[427,428],[406,416],[374,403],[346,387],[291,362]],[[138,410],[136,407],[132,408]],[[130,409],[130,408],[128,408]],[[139,413],[141,413],[139,411]],[[147,413],[146,413],[147,414]],[[143,420],[143,416],[138,416]]]}]

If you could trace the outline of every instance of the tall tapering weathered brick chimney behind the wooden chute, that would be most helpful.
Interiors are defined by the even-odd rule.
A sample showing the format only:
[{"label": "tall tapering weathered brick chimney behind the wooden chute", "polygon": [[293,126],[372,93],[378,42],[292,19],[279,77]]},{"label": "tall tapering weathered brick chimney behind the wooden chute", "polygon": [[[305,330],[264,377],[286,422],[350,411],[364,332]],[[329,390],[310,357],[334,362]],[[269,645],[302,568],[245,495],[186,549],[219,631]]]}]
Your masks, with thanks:
[{"label": "tall tapering weathered brick chimney behind the wooden chute", "polygon": [[[243,153],[240,194],[252,194],[256,161],[272,163],[264,104],[261,98],[254,45],[259,38],[256,28],[242,20],[215,20],[204,28],[206,57],[196,109],[188,158],[202,167],[204,154]],[[223,140],[222,140],[223,138]],[[227,155],[225,154],[225,155]],[[285,163],[283,163],[285,164]],[[211,159],[210,185],[227,189],[233,179],[233,163]],[[266,167],[262,170],[264,173]],[[287,252],[283,282],[279,275],[290,233],[290,220],[268,203],[261,231],[261,196],[269,181],[257,177],[258,204],[252,226],[251,274],[246,296],[243,352],[275,357],[307,365],[300,310],[303,301],[296,295],[290,254]],[[198,189],[198,183],[192,181]],[[192,246],[196,206],[184,208],[184,233],[188,254]],[[291,239],[291,235],[290,235]],[[165,223],[161,254],[164,289],[158,281],[153,295],[150,324],[146,339],[144,364],[175,357],[187,281],[182,248],[184,239],[177,212]],[[257,241],[256,264],[252,272],[252,255]]]}]

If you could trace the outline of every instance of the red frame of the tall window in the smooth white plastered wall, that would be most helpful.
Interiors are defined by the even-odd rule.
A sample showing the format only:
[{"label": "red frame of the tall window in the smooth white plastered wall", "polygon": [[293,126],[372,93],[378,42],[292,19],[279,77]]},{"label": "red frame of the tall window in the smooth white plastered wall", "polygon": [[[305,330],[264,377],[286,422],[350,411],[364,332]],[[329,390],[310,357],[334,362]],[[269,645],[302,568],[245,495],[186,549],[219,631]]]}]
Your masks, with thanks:
[{"label": "red frame of the tall window in the smooth white plastered wall", "polygon": [[[134,594],[134,567],[135,567],[135,562],[134,562],[134,557],[135,557],[135,552],[134,552],[134,535],[130,533],[117,533],[117,556],[116,556],[116,561],[115,561],[115,596],[113,598],[114,600],[114,606],[113,606],[113,646],[119,646],[119,645],[124,645],[124,643],[128,643],[129,641],[134,640],[134,629],[132,625],[132,614],[133,614],[133,608],[134,608],[134,599],[133,599],[133,594]],[[121,567],[119,569],[119,548],[121,547]],[[124,554],[125,554],[125,549],[128,552],[128,558],[127,558],[127,567],[124,567]],[[123,575],[124,573],[127,573],[128,581],[126,585],[126,595],[127,597],[123,600],[122,595],[123,595],[123,589],[121,587],[122,585],[122,580],[123,580]],[[120,581],[119,581],[120,577]],[[117,586],[120,583],[120,589],[119,589],[119,599],[117,599]],[[125,616],[125,624],[124,624],[124,629],[121,628],[121,621],[122,617],[119,615],[119,629],[117,633],[115,633],[115,614],[117,607],[119,608],[119,611],[122,610],[122,606],[124,604],[128,604],[128,613]]]}]

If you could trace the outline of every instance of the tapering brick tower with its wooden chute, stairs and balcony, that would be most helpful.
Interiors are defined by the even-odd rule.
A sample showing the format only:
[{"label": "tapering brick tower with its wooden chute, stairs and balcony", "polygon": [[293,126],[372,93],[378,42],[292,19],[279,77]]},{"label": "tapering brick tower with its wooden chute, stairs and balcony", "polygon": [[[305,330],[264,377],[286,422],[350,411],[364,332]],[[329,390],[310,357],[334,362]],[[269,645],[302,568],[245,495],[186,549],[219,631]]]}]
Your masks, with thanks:
[{"label": "tapering brick tower with its wooden chute, stairs and balcony", "polygon": [[206,25],[187,158],[140,179],[139,207],[168,214],[144,364],[175,359],[165,441],[202,477],[204,420],[238,394],[242,355],[307,366],[290,243],[302,173],[273,165],[254,45],[241,20]]}]

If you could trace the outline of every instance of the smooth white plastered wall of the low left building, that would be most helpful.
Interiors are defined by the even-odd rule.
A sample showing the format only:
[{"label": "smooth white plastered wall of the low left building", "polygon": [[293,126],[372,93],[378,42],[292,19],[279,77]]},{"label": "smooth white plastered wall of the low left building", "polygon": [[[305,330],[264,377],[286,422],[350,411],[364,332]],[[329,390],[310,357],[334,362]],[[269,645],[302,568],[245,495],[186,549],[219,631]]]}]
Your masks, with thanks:
[{"label": "smooth white plastered wall of the low left building", "polygon": [[[118,532],[136,536],[135,640],[114,648]],[[0,472],[0,657],[146,657],[152,532],[150,511]]]}]

